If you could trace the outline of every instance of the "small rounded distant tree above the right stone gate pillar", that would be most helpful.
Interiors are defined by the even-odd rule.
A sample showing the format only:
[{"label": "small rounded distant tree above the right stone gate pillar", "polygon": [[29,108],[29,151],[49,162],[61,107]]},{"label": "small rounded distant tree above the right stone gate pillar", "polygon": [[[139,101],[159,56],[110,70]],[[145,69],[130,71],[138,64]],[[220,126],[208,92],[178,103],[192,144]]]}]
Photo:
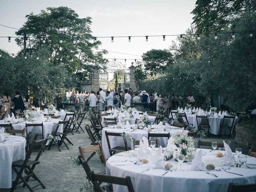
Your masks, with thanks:
[{"label": "small rounded distant tree above the right stone gate pillar", "polygon": [[142,54],[144,61],[145,71],[149,74],[157,74],[164,72],[166,67],[171,66],[173,63],[173,55],[170,51],[152,49]]}]

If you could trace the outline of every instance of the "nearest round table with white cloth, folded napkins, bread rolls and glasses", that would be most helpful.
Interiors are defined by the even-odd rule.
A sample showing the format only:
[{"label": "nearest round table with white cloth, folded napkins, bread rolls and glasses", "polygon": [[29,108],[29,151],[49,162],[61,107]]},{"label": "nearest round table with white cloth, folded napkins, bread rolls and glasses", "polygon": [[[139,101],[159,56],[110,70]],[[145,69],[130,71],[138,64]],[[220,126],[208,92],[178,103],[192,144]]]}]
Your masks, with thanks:
[{"label": "nearest round table with white cloth, folded napkins, bread rolls and glasses", "polygon": [[[174,146],[176,144],[172,137],[166,148],[154,149],[146,143],[146,138],[142,140],[139,148],[115,154],[106,162],[106,174],[130,176],[135,191],[226,192],[230,182],[256,182],[256,158],[241,155],[239,152],[238,155],[232,153],[225,143],[225,148],[218,149],[218,152],[192,148],[188,151],[190,158],[184,161],[185,156],[180,146]],[[168,151],[173,152],[173,155],[166,155]],[[216,156],[218,153],[223,156]],[[124,186],[113,185],[113,188],[115,192],[127,191]]]}]

